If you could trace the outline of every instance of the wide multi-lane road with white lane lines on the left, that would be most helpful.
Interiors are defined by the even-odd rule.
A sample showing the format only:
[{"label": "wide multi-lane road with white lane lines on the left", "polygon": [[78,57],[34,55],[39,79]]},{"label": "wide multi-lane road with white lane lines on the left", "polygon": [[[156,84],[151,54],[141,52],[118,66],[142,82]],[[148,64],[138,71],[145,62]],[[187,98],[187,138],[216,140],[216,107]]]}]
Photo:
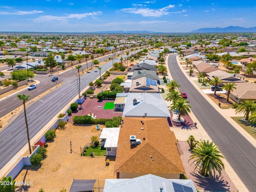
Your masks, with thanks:
[{"label": "wide multi-lane road with white lane lines on the left", "polygon": [[[101,62],[106,58],[108,58],[108,56],[99,58],[98,61]],[[119,61],[119,58],[114,60],[114,62]],[[112,63],[113,62],[110,61],[102,65],[101,73],[111,68]],[[90,66],[89,62],[88,66]],[[83,64],[82,68],[84,68],[85,71],[86,64]],[[59,74],[58,82],[63,82],[64,84],[26,108],[30,138],[35,136],[39,130],[41,130],[54,116],[56,116],[58,112],[62,110],[63,106],[67,105],[70,100],[78,96],[76,75],[76,68]],[[86,88],[90,81],[94,81],[99,76],[100,72],[98,68],[92,70],[86,75],[81,75],[81,90]],[[56,82],[53,82],[54,84],[52,84],[51,79],[52,77],[46,78],[46,76],[44,76],[36,89],[32,91],[24,90],[19,94],[30,94],[31,98],[34,98],[56,84]],[[3,106],[6,107],[4,112],[7,112],[8,110],[11,111],[21,104],[22,102],[16,99],[16,94],[6,98],[3,102],[0,102],[1,108]],[[6,128],[4,128],[4,130],[0,132],[0,169],[2,169],[3,166],[5,166],[5,164],[26,144],[26,124],[24,123],[24,114],[20,113]]]}]

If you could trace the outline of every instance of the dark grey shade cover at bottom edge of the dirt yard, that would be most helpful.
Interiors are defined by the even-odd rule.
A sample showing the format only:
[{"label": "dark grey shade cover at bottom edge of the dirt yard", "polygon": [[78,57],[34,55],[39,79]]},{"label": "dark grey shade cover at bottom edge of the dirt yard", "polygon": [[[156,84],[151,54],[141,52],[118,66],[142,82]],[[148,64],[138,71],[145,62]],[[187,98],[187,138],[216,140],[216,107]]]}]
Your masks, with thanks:
[{"label": "dark grey shade cover at bottom edge of the dirt yard", "polygon": [[96,179],[92,179],[92,180],[73,179],[73,183],[69,192],[92,191],[95,182],[96,182]]}]

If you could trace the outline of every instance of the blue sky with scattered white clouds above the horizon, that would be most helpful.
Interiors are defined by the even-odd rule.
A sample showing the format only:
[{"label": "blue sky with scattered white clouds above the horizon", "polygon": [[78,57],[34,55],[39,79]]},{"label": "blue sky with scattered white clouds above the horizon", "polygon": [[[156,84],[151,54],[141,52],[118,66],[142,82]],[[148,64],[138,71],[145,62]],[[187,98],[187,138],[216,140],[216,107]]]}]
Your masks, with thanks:
[{"label": "blue sky with scattered white clouds above the horizon", "polygon": [[256,26],[256,1],[9,0],[0,3],[0,31],[96,32]]}]

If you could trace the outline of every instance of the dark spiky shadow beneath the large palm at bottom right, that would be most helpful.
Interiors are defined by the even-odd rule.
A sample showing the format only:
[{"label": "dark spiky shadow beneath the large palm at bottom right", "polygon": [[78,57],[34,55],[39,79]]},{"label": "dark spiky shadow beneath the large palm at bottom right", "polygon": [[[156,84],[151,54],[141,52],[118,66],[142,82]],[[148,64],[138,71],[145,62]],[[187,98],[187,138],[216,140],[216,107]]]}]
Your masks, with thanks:
[{"label": "dark spiky shadow beneath the large palm at bottom right", "polygon": [[219,175],[216,175],[211,179],[206,179],[200,177],[194,172],[192,172],[191,174],[192,176],[194,176],[194,182],[197,184],[197,186],[204,188],[204,190],[230,191],[230,185],[228,184],[228,182]]}]

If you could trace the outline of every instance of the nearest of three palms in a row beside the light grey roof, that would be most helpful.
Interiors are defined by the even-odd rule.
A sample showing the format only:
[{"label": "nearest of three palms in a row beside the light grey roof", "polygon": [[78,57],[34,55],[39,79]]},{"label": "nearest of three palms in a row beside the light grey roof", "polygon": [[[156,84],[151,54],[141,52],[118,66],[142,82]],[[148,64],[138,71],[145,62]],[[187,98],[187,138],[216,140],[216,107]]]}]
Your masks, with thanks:
[{"label": "nearest of three palms in a row beside the light grey roof", "polygon": [[172,103],[171,105],[171,111],[174,110],[178,110],[178,120],[180,120],[180,117],[183,116],[184,114],[188,114],[188,112],[190,112],[190,108],[191,106],[188,105],[187,103],[189,103],[188,101],[186,101],[185,99],[178,99],[175,102]]}]

